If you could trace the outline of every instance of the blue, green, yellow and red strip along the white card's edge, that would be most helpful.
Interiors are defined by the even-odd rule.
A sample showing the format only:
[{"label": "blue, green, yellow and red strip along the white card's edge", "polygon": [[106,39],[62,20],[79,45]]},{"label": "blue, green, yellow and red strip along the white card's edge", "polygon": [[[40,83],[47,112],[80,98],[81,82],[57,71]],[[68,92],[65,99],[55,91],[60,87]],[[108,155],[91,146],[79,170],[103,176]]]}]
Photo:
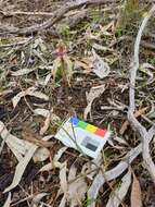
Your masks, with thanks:
[{"label": "blue, green, yellow and red strip along the white card's edge", "polygon": [[85,121],[80,121],[78,118],[76,117],[73,117],[69,119],[69,122],[74,125],[74,126],[78,126],[82,130],[86,130],[88,132],[91,132],[92,134],[95,134],[95,135],[99,135],[99,136],[102,136],[104,137],[105,133],[106,133],[106,130],[102,130],[100,127],[96,127],[92,124],[89,124]]}]

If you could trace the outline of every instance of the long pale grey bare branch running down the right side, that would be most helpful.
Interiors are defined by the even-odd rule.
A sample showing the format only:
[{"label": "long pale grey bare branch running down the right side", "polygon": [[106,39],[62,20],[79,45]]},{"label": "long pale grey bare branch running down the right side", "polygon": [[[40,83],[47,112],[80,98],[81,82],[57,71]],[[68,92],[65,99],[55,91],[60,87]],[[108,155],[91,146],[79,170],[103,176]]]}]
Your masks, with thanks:
[{"label": "long pale grey bare branch running down the right side", "polygon": [[135,119],[134,117],[134,110],[135,110],[135,78],[137,78],[137,72],[139,69],[139,51],[140,51],[140,42],[142,38],[143,31],[145,26],[147,25],[148,20],[152,17],[152,15],[155,12],[155,4],[152,7],[147,15],[144,17],[140,29],[137,35],[135,44],[134,44],[134,56],[133,60],[130,65],[130,89],[129,89],[129,110],[128,110],[128,120],[131,123],[132,129],[138,132],[142,139],[142,155],[143,160],[145,162],[145,167],[147,171],[150,172],[153,182],[155,183],[155,165],[152,160],[151,154],[150,154],[150,146],[148,146],[148,138],[150,135],[152,137],[155,135],[154,126],[147,132],[146,129]]}]

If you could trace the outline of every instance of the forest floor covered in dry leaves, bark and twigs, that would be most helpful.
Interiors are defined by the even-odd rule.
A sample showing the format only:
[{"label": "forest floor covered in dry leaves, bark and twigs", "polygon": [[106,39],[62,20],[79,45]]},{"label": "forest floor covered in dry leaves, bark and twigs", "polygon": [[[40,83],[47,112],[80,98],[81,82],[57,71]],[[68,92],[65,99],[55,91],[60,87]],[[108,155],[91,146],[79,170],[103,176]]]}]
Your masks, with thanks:
[{"label": "forest floor covered in dry leaves, bark and twigs", "polygon": [[[0,206],[111,207],[114,202],[125,207],[138,202],[134,207],[154,207],[155,187],[141,154],[118,176],[106,178],[141,141],[127,122],[129,68],[151,4],[142,3],[133,16],[111,0],[64,12],[75,2],[81,1],[0,1]],[[146,129],[155,121],[154,24],[142,37],[135,88],[137,117]],[[60,40],[73,64],[69,83],[52,76]],[[54,138],[72,115],[113,132],[100,158]],[[24,160],[30,148],[31,157]],[[155,141],[151,155],[155,161]],[[105,182],[91,198],[99,174]]]}]

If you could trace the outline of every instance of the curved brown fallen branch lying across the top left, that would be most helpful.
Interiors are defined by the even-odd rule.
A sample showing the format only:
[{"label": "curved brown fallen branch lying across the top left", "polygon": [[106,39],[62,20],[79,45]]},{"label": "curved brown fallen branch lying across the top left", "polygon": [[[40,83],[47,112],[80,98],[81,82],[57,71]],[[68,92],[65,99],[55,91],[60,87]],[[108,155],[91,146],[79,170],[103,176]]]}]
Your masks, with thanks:
[{"label": "curved brown fallen branch lying across the top left", "polygon": [[61,21],[63,16],[69,12],[70,10],[75,10],[78,8],[81,8],[83,5],[100,5],[105,3],[116,3],[117,0],[83,0],[79,3],[70,3],[69,5],[63,5],[63,8],[59,9],[53,13],[53,16],[49,19],[48,21],[44,21],[42,24],[36,24],[29,27],[25,28],[5,28],[7,31],[3,31],[4,34],[18,34],[18,35],[28,35],[34,34],[42,29],[47,29],[51,26],[53,26],[56,22]]}]

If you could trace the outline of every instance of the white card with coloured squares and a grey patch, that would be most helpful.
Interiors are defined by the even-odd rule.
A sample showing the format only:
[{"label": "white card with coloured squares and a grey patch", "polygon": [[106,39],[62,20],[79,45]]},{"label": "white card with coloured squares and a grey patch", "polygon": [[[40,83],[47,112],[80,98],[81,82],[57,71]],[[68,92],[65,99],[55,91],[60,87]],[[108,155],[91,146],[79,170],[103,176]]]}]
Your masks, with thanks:
[{"label": "white card with coloured squares and a grey patch", "polygon": [[109,135],[111,132],[107,130],[99,129],[73,117],[60,127],[55,138],[81,154],[96,158]]}]

